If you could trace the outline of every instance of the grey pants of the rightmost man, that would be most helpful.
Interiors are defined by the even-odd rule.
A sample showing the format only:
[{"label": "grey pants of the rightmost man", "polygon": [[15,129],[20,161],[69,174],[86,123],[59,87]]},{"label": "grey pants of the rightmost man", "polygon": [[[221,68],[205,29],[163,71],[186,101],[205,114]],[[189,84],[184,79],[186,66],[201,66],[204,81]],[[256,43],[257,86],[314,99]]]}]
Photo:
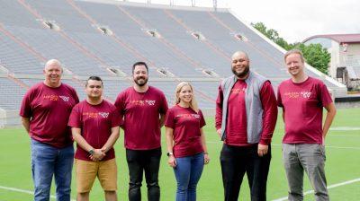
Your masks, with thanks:
[{"label": "grey pants of the rightmost man", "polygon": [[283,144],[283,161],[289,185],[289,201],[303,200],[303,171],[315,191],[315,200],[329,200],[325,178],[325,148],[321,144]]}]

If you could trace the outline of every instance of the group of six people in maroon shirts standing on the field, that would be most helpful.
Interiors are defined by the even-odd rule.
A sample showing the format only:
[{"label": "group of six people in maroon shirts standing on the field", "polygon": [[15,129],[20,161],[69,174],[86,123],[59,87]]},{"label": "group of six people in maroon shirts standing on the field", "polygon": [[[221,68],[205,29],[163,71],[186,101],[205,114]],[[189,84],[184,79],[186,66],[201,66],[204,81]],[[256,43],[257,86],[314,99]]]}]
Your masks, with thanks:
[{"label": "group of six people in maroon shirts standing on the field", "polygon": [[[231,60],[233,75],[220,83],[215,116],[216,132],[223,141],[220,167],[224,200],[238,200],[245,173],[251,200],[266,200],[277,107],[283,108],[283,159],[289,200],[303,199],[304,170],[316,200],[329,200],[324,141],[336,109],[326,85],[305,73],[302,52],[296,49],[284,56],[291,78],[278,86],[277,99],[270,81],[250,70],[247,53],[235,52]],[[43,70],[44,82],[31,87],[20,109],[23,127],[31,136],[36,201],[49,200],[53,176],[57,199],[70,200],[74,158],[78,201],[89,200],[96,178],[105,200],[117,200],[113,144],[120,128],[129,168],[129,200],[141,200],[145,173],[148,200],[158,201],[163,126],[167,162],[177,181],[175,200],[196,200],[196,186],[210,157],[202,129],[206,123],[191,83],[176,86],[175,105],[168,109],[164,93],[148,85],[148,66],[144,62],[132,66],[133,85],[120,92],[114,104],[103,99],[103,81],[98,76],[87,79],[86,99],[79,102],[74,88],[61,82],[62,73],[60,62],[49,60]],[[327,110],[324,124],[323,108]]]}]

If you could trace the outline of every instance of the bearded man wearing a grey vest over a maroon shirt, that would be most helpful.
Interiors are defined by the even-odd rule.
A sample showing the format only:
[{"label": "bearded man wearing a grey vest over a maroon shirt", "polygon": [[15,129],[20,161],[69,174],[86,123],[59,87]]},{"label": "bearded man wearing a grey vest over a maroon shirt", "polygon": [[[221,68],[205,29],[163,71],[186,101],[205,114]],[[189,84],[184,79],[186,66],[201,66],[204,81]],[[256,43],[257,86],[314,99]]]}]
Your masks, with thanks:
[{"label": "bearded man wearing a grey vest over a maroon shirt", "polygon": [[265,77],[249,70],[245,52],[235,52],[231,59],[234,75],[220,83],[215,116],[217,133],[224,141],[220,153],[224,200],[238,200],[245,173],[251,200],[266,200],[277,118],[275,92]]}]

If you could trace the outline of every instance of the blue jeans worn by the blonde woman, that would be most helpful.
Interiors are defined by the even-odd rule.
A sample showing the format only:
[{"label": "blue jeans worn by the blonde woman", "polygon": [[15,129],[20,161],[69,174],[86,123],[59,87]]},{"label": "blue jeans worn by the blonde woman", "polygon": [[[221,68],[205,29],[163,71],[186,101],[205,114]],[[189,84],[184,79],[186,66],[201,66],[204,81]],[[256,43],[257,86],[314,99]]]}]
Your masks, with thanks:
[{"label": "blue jeans worn by the blonde woman", "polygon": [[202,176],[203,153],[175,158],[176,201],[195,201],[196,186]]}]

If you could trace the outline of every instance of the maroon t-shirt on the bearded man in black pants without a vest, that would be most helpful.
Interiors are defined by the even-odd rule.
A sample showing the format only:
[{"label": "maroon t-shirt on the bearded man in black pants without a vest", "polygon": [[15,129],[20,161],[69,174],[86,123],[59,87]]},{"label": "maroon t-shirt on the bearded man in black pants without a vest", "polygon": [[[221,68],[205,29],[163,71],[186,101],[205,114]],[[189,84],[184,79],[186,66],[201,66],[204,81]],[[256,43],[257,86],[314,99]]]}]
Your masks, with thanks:
[{"label": "maroon t-shirt on the bearded man in black pants without a vest", "polygon": [[115,106],[123,116],[125,148],[150,150],[161,146],[159,115],[167,111],[163,92],[152,86],[147,92],[129,87],[118,95]]}]

